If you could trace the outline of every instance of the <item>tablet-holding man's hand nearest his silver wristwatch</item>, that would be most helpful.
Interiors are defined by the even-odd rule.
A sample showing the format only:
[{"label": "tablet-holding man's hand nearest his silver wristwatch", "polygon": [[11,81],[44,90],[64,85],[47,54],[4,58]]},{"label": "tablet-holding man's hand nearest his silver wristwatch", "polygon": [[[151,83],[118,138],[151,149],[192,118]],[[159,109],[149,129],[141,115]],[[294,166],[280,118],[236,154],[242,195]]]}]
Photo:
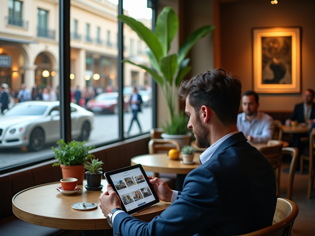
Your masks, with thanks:
[{"label": "tablet-holding man's hand nearest his silver wristwatch", "polygon": [[102,210],[104,216],[107,217],[109,212],[114,208],[121,208],[121,201],[116,192],[113,190],[110,184],[107,185],[107,191],[100,196],[100,209]]}]

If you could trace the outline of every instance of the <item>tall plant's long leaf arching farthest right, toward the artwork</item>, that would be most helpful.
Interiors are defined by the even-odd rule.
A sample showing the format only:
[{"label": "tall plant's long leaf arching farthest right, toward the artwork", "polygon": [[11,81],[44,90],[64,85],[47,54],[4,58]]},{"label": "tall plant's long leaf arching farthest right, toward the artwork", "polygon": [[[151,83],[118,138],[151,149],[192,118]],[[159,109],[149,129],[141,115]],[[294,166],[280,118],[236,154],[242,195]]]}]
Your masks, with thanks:
[{"label": "tall plant's long leaf arching farthest right, toward the artwork", "polygon": [[192,46],[202,37],[209,34],[211,31],[215,29],[214,25],[206,25],[203,27],[200,27],[198,30],[192,32],[192,34],[183,42],[182,46],[179,49],[178,52],[178,64],[181,63],[181,61],[186,57],[189,50],[192,48]]}]

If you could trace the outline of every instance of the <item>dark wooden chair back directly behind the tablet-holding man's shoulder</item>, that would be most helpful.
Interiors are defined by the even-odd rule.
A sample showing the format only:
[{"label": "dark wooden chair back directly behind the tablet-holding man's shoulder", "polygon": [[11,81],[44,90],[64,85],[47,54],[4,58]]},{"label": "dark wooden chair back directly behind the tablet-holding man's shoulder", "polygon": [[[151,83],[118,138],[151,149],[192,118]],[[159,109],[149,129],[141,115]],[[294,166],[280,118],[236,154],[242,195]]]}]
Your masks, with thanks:
[{"label": "dark wooden chair back directly behind the tablet-holding man's shoulder", "polygon": [[280,167],[282,162],[282,146],[283,143],[278,145],[261,147],[258,150],[265,155],[265,157],[271,162],[272,167],[276,174],[276,182],[277,182],[277,196],[279,194],[279,184],[280,184]]}]

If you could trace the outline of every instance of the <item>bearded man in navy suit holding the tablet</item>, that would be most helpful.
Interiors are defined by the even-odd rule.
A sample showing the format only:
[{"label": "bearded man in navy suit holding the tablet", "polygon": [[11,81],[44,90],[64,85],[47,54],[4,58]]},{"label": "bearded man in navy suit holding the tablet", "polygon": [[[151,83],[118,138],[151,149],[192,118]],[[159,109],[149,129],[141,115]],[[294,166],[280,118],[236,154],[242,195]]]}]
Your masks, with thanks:
[{"label": "bearded man in navy suit holding the tablet", "polygon": [[100,208],[112,222],[114,235],[224,236],[272,225],[275,174],[266,157],[237,129],[239,78],[223,69],[207,71],[183,81],[179,94],[186,101],[187,126],[197,147],[208,147],[200,155],[201,165],[186,176],[182,192],[149,178],[159,199],[172,203],[149,223],[119,210],[119,196],[108,185]]}]

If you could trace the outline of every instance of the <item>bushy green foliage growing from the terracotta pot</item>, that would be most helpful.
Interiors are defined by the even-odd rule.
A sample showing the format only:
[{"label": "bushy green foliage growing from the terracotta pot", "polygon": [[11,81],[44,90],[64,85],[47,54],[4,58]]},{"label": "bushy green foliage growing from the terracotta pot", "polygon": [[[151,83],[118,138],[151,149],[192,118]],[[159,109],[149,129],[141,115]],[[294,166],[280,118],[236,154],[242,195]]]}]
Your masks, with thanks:
[{"label": "bushy green foliage growing from the terracotta pot", "polygon": [[87,147],[84,145],[85,141],[71,141],[70,143],[65,143],[63,139],[57,142],[58,148],[51,147],[55,153],[55,159],[58,162],[54,163],[53,166],[60,166],[60,164],[65,166],[77,166],[83,165],[88,158],[94,158],[93,154],[89,154],[89,150],[95,147]]}]

